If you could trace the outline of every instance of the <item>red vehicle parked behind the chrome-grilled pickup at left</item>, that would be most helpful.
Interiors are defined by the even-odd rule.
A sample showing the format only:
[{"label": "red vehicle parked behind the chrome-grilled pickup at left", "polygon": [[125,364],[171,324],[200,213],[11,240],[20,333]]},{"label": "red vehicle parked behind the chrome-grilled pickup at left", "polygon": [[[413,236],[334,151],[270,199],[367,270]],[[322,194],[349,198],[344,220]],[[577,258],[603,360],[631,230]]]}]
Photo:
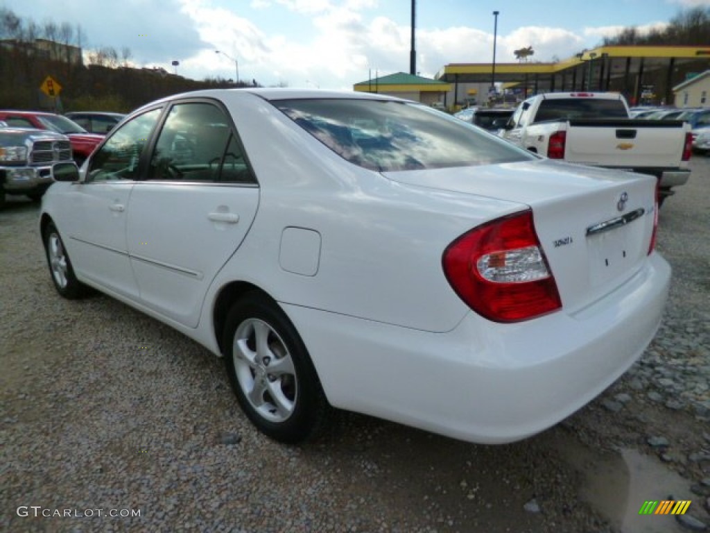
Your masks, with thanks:
[{"label": "red vehicle parked behind the chrome-grilled pickup at left", "polygon": [[94,148],[104,140],[103,135],[90,134],[76,122],[54,113],[0,109],[0,121],[5,122],[8,126],[48,129],[56,133],[65,134],[72,144],[74,161],[79,166],[84,163],[84,159],[91,155]]}]

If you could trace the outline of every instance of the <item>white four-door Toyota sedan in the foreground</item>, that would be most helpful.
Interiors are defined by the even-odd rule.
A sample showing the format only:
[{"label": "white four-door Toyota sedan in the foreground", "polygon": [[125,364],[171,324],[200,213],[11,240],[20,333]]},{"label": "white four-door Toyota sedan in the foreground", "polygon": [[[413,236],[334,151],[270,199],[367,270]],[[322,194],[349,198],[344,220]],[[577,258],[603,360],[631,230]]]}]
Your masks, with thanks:
[{"label": "white four-door Toyota sedan in the foreground", "polygon": [[246,416],[332,407],[480,443],[542,431],[655,335],[655,179],[547,161],[378,95],[210,90],[133,112],[40,229],[92,286],[226,358]]}]

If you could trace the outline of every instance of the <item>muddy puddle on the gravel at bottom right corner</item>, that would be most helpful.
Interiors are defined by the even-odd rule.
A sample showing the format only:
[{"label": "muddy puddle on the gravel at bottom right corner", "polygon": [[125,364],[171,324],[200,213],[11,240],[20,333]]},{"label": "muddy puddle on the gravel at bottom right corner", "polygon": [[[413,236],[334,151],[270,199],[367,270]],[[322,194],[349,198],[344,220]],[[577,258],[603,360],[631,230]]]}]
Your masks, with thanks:
[{"label": "muddy puddle on the gravel at bottom right corner", "polygon": [[[582,477],[579,495],[623,533],[685,533],[672,515],[639,515],[646,500],[691,500],[687,480],[656,458],[633,449],[619,453],[592,451],[571,438],[553,444]],[[672,495],[672,498],[669,496]]]}]

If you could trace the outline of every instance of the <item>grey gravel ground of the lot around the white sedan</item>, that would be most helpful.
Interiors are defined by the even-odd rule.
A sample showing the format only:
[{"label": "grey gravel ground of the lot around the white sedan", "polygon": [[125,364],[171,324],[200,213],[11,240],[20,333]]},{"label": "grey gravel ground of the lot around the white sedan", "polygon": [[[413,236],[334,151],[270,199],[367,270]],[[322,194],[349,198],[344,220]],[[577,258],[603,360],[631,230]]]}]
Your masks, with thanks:
[{"label": "grey gravel ground of the lot around the white sedan", "polygon": [[[0,530],[574,533],[710,524],[710,158],[692,168],[691,183],[661,211],[658,249],[674,279],[656,340],[595,402],[508,446],[346,413],[307,446],[275,443],[241,414],[222,362],[204,348],[106,296],[60,298],[37,206],[11,200],[0,212]],[[640,492],[638,464],[652,474]],[[623,500],[616,507],[610,491]],[[687,523],[620,517],[667,496],[692,500]]]}]

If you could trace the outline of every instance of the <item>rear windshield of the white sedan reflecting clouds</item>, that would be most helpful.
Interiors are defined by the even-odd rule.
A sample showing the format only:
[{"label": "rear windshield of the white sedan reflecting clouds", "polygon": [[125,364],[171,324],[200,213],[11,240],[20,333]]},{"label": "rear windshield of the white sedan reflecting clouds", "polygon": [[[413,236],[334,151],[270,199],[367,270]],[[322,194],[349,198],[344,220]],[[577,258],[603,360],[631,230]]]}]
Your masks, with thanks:
[{"label": "rear windshield of the white sedan reflecting clouds", "polygon": [[375,171],[490,165],[535,158],[420,104],[371,99],[272,103],[346,161]]}]

